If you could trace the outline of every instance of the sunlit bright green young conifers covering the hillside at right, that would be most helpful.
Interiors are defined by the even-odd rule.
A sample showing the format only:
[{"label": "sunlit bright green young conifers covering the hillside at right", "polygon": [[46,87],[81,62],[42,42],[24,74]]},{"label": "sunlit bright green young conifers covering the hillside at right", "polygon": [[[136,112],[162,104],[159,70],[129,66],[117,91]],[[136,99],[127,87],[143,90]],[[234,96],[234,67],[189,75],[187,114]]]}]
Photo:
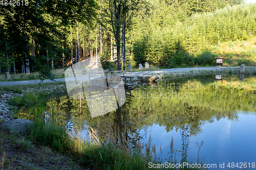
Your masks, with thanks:
[{"label": "sunlit bright green young conifers covering the hillside at right", "polygon": [[[152,9],[149,8],[148,11],[152,12],[142,12],[134,21],[134,30],[130,35],[133,46],[131,61],[135,63],[134,65],[145,61],[154,66],[169,68],[195,66],[197,63],[214,65],[211,57],[208,59],[206,59],[207,56],[197,57],[198,53],[208,50],[219,51],[221,42],[225,41],[229,41],[229,46],[233,47],[232,41],[247,39],[249,35],[255,34],[256,15],[250,15],[250,13],[254,13],[256,9],[248,4],[234,5],[236,3],[232,3],[231,6],[216,9],[214,12],[212,10],[207,13],[192,12],[189,17],[189,12],[183,9],[180,13],[187,13],[183,19],[179,19],[181,14],[176,12],[184,8],[185,6],[178,7],[184,4],[176,4],[175,8],[170,7],[174,4],[169,4],[168,7],[161,2],[151,4]],[[206,11],[207,9],[205,7]],[[158,11],[161,12],[158,13]],[[172,15],[168,15],[169,11],[172,11]],[[165,23],[169,18],[175,21],[172,21],[172,24]],[[164,20],[164,22],[157,22],[157,20]],[[189,55],[185,55],[186,53]],[[195,61],[193,56],[195,56]],[[187,62],[186,59],[189,61]]]}]

